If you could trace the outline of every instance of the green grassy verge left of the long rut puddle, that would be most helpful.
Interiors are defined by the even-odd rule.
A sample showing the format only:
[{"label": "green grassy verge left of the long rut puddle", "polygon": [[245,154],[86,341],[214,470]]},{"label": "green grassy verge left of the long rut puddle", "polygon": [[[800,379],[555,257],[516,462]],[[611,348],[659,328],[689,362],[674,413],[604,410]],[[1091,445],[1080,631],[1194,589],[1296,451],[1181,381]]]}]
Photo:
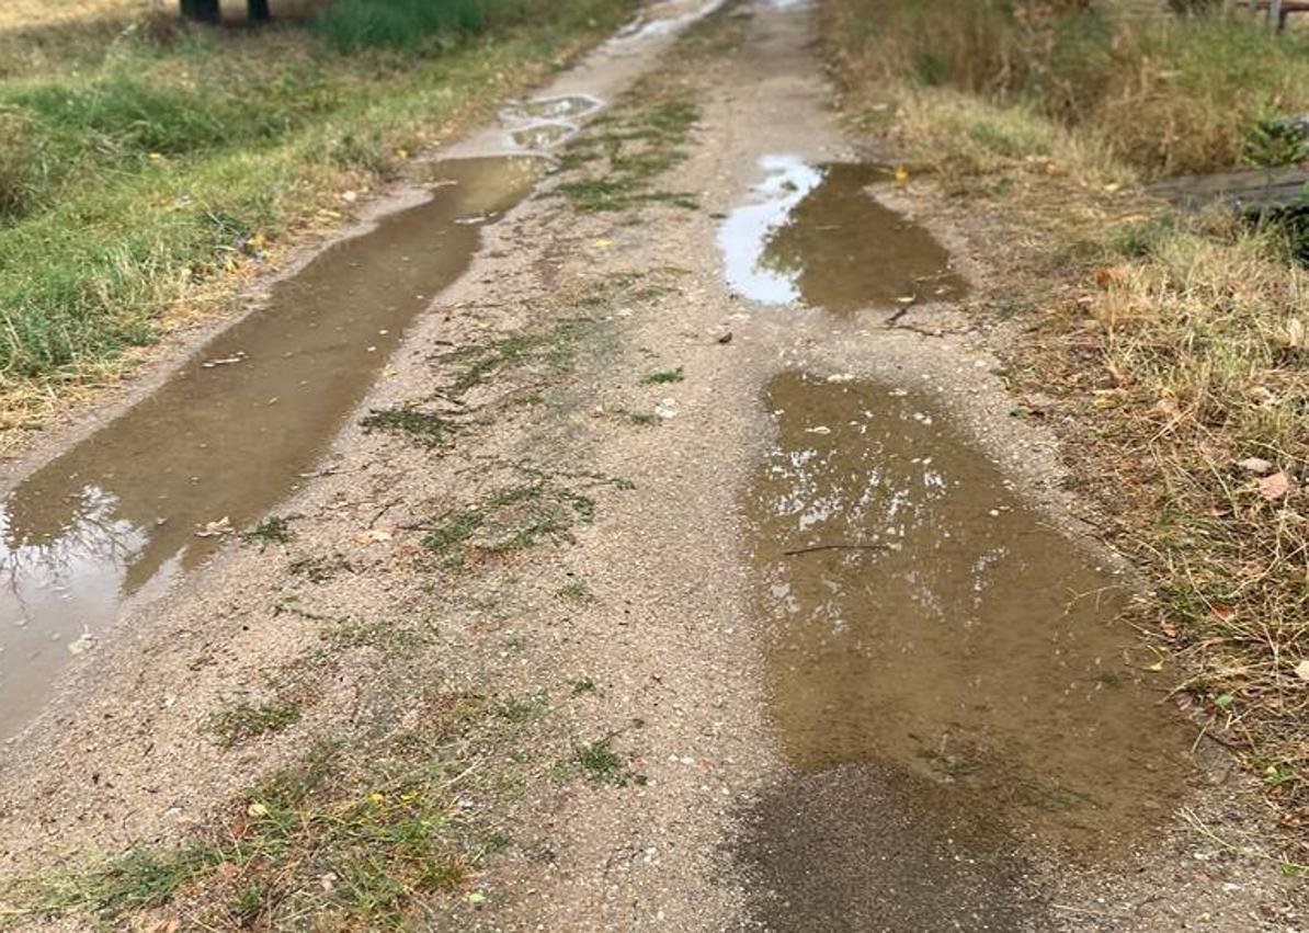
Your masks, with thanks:
[{"label": "green grassy verge left of the long rut puddle", "polygon": [[166,42],[86,30],[39,68],[0,68],[5,421],[113,377],[187,309],[224,308],[229,273],[340,224],[339,192],[393,175],[632,3],[475,5],[478,27],[406,51],[342,52],[323,37],[350,16],[343,3],[312,26]]}]

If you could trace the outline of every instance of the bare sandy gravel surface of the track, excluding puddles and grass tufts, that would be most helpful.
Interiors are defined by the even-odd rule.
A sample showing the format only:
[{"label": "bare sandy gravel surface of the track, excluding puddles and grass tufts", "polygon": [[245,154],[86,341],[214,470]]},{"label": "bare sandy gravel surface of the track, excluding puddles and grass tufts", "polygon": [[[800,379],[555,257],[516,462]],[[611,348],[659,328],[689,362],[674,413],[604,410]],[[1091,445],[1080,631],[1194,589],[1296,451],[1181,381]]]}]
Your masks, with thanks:
[{"label": "bare sandy gravel surface of the track, excluding puddles and grass tufts", "polygon": [[[874,772],[798,775],[785,763],[767,714],[767,632],[750,612],[757,581],[740,509],[770,440],[761,402],[770,377],[853,374],[931,395],[1054,525],[1073,535],[1080,526],[1059,489],[1054,440],[1008,416],[1013,399],[999,373],[1021,323],[987,315],[988,296],[1003,289],[988,279],[997,232],[987,219],[954,216],[928,188],[889,196],[953,250],[974,289],[958,306],[915,306],[895,326],[884,311],[755,306],[726,289],[716,215],[762,179],[761,156],[870,153],[838,130],[801,5],[744,4],[695,39],[657,63],[661,86],[692,96],[702,113],[689,158],[660,186],[695,192],[703,209],[648,204],[635,222],[579,215],[548,196],[556,182],[547,182],[543,196],[487,232],[473,271],[408,335],[363,410],[429,399],[450,378],[450,343],[585,314],[593,323],[576,365],[505,373],[478,389],[487,415],[449,451],[365,433],[352,419],[319,475],[281,510],[297,534],[287,552],[233,544],[124,618],[55,709],[5,750],[7,873],[211,826],[257,775],[314,737],[404,720],[415,682],[440,678],[497,696],[548,696],[551,726],[529,750],[538,771],[565,756],[569,741],[615,733],[627,767],[647,780],[529,784],[505,801],[520,844],[478,881],[496,896],[476,911],[435,904],[423,921],[432,929],[1305,928],[1302,883],[1237,851],[1258,845],[1264,824],[1253,789],[1207,745],[1181,779],[1185,810],[1237,848],[1199,835],[1178,811],[1147,844],[1111,858],[1073,861],[1020,840],[1018,858],[1000,868],[915,854],[912,826]],[[593,58],[551,90],[613,98],[652,64]],[[639,284],[627,284],[631,275]],[[603,300],[583,302],[597,285]],[[683,382],[641,383],[677,366]],[[522,391],[543,402],[505,404]],[[666,399],[674,416],[656,425],[631,417]],[[505,465],[524,462],[571,478],[562,483],[605,476],[632,488],[596,480],[594,521],[575,526],[571,540],[457,573],[433,567],[420,546],[424,518],[484,500],[514,475]],[[291,569],[302,557],[342,569],[312,582]],[[589,598],[562,598],[569,581],[584,581]],[[399,666],[376,645],[315,653],[321,625],[275,611],[292,594],[315,614],[384,625],[429,618],[437,641]],[[236,748],[212,741],[204,722],[215,709],[266,694],[288,670],[313,697],[300,722]],[[569,699],[568,684],[583,677],[598,690]],[[906,866],[922,874],[906,877]],[[888,899],[888,889],[903,896]]]}]

